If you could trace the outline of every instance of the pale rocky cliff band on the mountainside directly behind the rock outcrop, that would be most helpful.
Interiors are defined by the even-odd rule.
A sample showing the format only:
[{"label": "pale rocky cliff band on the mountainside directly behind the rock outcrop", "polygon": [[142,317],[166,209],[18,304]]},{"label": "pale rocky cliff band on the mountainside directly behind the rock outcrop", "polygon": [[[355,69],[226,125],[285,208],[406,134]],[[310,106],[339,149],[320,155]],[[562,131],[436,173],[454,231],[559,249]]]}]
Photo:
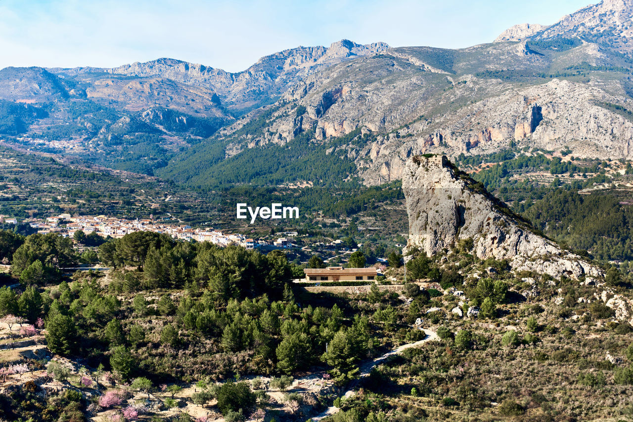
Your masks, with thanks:
[{"label": "pale rocky cliff band on the mountainside directly behind the rock outcrop", "polygon": [[[555,151],[569,147],[577,157],[632,159],[633,122],[606,107],[629,100],[604,87],[552,80],[507,90],[437,116],[430,124],[411,124],[399,130],[399,138],[385,136],[368,145],[363,154],[371,161],[361,174],[366,183],[385,183],[402,177],[404,162],[411,155],[488,154],[511,142]],[[468,86],[458,87],[452,95],[464,89]]]}]

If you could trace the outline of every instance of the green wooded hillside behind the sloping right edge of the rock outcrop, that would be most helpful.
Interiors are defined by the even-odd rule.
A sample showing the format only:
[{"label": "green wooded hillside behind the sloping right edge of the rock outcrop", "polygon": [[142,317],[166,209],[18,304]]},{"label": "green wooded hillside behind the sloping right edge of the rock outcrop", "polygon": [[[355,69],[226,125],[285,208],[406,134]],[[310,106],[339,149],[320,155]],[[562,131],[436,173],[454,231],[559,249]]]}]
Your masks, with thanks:
[{"label": "green wooded hillside behind the sloping right edge of the rock outcrop", "polygon": [[[565,152],[565,151],[563,151]],[[627,197],[610,190],[581,195],[580,190],[608,184],[614,178],[625,179],[632,172],[608,175],[610,166],[600,160],[549,159],[544,154],[516,154],[510,150],[490,155],[458,157],[461,166],[476,167],[494,163],[473,174],[495,195],[508,202],[515,212],[534,227],[573,251],[587,251],[602,262],[620,262],[623,269],[633,260],[630,243],[631,208]],[[525,173],[544,172],[553,176],[543,183],[539,176]]]}]

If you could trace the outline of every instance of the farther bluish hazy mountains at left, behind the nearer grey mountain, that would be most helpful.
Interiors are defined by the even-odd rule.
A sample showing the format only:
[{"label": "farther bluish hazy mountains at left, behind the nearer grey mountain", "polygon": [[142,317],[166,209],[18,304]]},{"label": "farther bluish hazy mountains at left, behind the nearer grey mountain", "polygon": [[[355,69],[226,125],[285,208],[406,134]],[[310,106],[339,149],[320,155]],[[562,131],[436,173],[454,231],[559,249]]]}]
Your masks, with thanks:
[{"label": "farther bluish hazy mountains at left, behind the nearer grey mountain", "polygon": [[6,68],[0,71],[0,102],[32,108],[3,107],[10,115],[0,119],[0,135],[24,136],[22,147],[152,174],[173,154],[235,115],[275,102],[307,75],[387,48],[348,40],[298,47],[262,57],[239,73],[175,59],[113,69]]}]

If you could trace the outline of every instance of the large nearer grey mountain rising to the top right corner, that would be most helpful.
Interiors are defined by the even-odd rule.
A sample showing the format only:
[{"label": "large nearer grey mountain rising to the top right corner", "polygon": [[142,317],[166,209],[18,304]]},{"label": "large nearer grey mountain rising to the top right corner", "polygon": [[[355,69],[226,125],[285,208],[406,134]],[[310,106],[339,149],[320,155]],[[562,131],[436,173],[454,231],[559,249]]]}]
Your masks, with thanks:
[{"label": "large nearer grey mountain rising to the top right corner", "polygon": [[[282,157],[306,136],[313,140],[301,148],[314,150],[310,160],[325,162],[316,159],[319,150],[339,157],[339,165],[324,164],[310,176],[316,181],[351,163],[351,175],[385,183],[402,177],[408,157],[427,152],[569,148],[578,157],[633,159],[633,62],[620,47],[629,37],[631,4],[604,1],[551,27],[514,27],[501,36],[520,42],[400,47],[320,69],[268,107],[265,121],[262,111],[249,114],[160,174],[189,183],[246,183],[247,174],[229,180],[223,164],[204,169],[196,155],[213,150],[218,157],[224,143],[224,166],[240,167],[252,160],[251,148],[277,148]],[[196,163],[195,171],[188,163]]]}]

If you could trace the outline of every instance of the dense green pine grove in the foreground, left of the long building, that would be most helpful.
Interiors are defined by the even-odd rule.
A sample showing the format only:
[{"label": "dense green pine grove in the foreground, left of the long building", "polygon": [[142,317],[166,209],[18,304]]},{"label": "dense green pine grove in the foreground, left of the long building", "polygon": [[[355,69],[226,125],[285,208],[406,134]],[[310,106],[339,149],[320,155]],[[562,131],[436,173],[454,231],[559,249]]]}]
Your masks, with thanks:
[{"label": "dense green pine grove in the foreground, left of the long building", "polygon": [[[136,232],[99,246],[102,262],[116,267],[104,284],[95,272],[67,279],[59,271],[78,255],[70,239],[0,235],[2,252],[12,256],[12,272],[20,274],[23,286],[21,294],[0,288],[0,317],[44,323],[52,353],[82,356],[86,366],[111,371],[118,382],[134,380],[132,388],[140,390],[163,382],[294,374],[315,365],[327,366],[335,383],[343,385],[356,377],[360,361],[390,344],[398,325],[392,307],[397,299],[379,291],[370,294],[375,305],[306,296],[299,307],[289,280],[301,271],[280,251],[261,255]],[[33,273],[36,267],[47,277]],[[154,294],[158,298],[151,298]],[[420,303],[427,299],[421,296]],[[187,359],[178,358],[182,353]],[[236,385],[227,397],[239,393]],[[255,404],[249,389],[239,393],[243,400],[237,404],[223,402],[222,390],[204,391],[209,395],[195,400],[215,397],[225,414]],[[25,411],[19,395],[7,404],[3,416]],[[32,406],[46,403],[37,399]],[[87,404],[80,396],[68,406],[44,420],[60,414],[83,420]]]}]

